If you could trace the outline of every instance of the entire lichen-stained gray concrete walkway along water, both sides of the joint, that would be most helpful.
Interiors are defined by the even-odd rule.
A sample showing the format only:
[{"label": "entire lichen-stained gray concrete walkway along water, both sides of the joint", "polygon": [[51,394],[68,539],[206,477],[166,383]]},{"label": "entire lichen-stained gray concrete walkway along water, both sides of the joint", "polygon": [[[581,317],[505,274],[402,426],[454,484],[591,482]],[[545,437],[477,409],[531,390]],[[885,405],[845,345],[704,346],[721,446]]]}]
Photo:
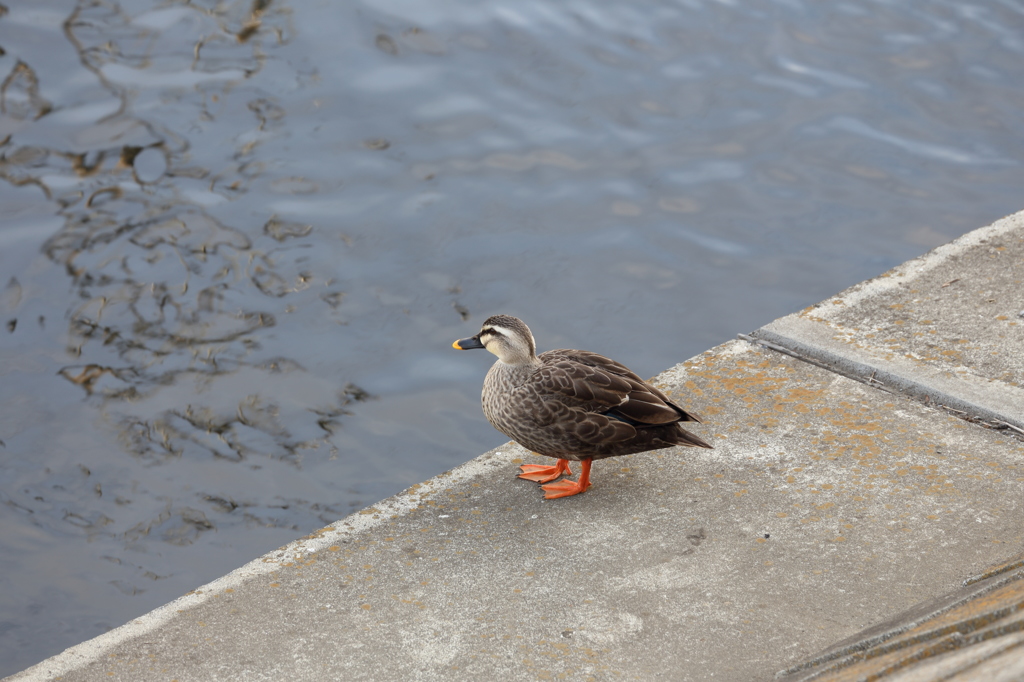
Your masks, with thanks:
[{"label": "entire lichen-stained gray concrete walkway along water, both sides of the joint", "polygon": [[659,375],[714,451],[508,444],[9,679],[806,679],[1024,547],[1022,281],[1019,213]]}]

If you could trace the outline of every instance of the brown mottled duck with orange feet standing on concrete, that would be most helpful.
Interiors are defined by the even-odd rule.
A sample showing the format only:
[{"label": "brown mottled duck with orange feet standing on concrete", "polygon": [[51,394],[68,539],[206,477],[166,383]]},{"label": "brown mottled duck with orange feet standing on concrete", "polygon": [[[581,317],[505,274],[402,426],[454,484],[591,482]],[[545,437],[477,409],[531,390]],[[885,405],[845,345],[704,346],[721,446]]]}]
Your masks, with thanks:
[{"label": "brown mottled duck with orange feet standing on concrete", "polygon": [[[587,492],[594,460],[677,445],[712,447],[681,426],[699,419],[625,365],[588,350],[538,355],[532,332],[518,317],[492,315],[479,333],[452,347],[498,356],[483,380],[483,415],[523,447],[557,460],[520,467],[519,478],[546,483],[541,488],[548,500]],[[578,480],[567,478],[569,462],[580,463]]]}]

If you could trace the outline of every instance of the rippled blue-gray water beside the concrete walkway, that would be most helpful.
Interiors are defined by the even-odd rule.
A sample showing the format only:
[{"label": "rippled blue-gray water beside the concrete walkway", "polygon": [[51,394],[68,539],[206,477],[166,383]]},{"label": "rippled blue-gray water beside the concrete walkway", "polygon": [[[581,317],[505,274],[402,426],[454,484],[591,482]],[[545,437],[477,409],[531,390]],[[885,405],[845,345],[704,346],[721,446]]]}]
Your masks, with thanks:
[{"label": "rippled blue-gray water beside the concrete walkway", "polygon": [[7,3],[0,675],[1022,208],[1024,3],[606,4]]}]

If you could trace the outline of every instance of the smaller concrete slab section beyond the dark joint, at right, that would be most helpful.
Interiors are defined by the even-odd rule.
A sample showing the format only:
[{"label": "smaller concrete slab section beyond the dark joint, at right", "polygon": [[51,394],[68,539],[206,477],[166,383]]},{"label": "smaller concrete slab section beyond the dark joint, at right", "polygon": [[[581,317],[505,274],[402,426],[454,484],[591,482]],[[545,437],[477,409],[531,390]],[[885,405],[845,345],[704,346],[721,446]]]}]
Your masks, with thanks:
[{"label": "smaller concrete slab section beyond the dark joint, at right", "polygon": [[754,336],[841,373],[1024,429],[1024,212]]}]

